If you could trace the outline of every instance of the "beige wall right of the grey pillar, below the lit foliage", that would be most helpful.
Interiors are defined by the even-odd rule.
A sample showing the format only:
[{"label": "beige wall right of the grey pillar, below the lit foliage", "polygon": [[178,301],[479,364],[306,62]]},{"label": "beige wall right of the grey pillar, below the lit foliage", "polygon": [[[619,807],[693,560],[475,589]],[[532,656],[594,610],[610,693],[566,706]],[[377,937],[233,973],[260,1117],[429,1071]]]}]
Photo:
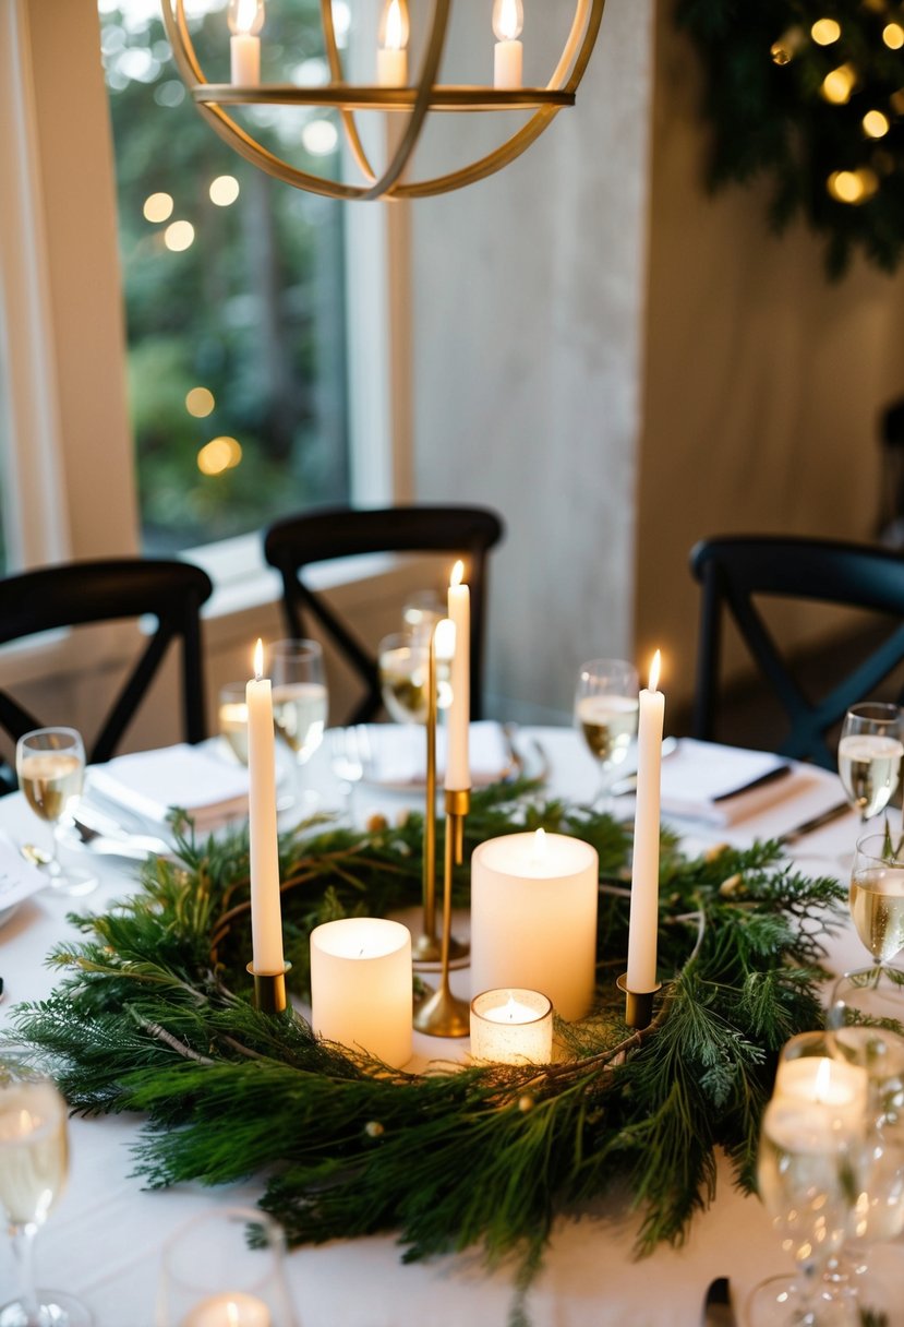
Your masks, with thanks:
[{"label": "beige wall right of the grey pillar, below the lit foliage", "polygon": [[904,393],[904,275],[858,265],[831,285],[811,232],[769,232],[763,187],[705,192],[701,77],[671,7],[656,36],[636,638],[640,658],[663,646],[680,702],[697,539],[874,537],[877,414]]}]

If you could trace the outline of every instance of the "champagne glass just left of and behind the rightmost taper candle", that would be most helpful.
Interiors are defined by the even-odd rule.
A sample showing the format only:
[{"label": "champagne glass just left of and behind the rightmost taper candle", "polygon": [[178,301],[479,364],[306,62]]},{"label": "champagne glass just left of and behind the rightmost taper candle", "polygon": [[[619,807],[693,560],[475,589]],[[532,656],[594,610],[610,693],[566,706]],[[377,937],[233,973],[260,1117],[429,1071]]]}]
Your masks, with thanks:
[{"label": "champagne glass just left of and behind the rightmost taper candle", "polygon": [[608,811],[612,778],[638,733],[638,670],[627,660],[590,660],[578,671],[574,723],[599,764],[591,805]]}]

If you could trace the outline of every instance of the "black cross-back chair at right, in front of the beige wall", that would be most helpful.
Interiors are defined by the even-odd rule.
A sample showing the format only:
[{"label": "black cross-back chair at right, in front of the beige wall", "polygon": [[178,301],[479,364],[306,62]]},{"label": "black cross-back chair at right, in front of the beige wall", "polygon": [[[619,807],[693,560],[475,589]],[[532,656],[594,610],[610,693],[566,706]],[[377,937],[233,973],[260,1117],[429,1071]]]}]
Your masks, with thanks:
[{"label": "black cross-back chair at right, in front of the beige wall", "polygon": [[[728,612],[787,715],[782,754],[835,768],[826,734],[848,706],[866,699],[904,660],[904,556],[834,540],[740,536],[696,544],[691,568],[703,587],[693,735],[712,739],[716,733]],[[877,648],[868,649],[842,681],[814,701],[754,602],[760,596],[871,609],[891,622]]]}]

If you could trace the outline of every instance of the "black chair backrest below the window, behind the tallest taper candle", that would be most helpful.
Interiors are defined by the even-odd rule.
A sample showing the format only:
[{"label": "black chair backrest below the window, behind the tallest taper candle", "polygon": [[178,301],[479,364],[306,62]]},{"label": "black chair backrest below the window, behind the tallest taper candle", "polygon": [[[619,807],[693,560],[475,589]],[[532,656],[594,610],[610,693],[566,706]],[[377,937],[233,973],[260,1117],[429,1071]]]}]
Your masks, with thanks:
[{"label": "black chair backrest below the window, behind the tallest taper candle", "polygon": [[282,576],[289,633],[304,637],[304,613],[310,613],[365,685],[365,695],[347,722],[366,722],[380,710],[376,658],[323,597],[305,584],[305,568],[357,553],[437,552],[463,557],[471,587],[471,717],[477,719],[482,697],[486,553],[502,532],[496,512],[482,507],[420,506],[370,511],[333,507],[289,516],[266,531],[264,553]]}]

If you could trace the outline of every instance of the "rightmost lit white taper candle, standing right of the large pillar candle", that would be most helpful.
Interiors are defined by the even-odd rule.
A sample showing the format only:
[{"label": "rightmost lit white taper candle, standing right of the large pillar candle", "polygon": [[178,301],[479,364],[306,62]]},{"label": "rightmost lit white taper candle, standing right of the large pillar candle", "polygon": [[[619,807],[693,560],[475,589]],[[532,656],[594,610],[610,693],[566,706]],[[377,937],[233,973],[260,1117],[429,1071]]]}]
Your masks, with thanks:
[{"label": "rightmost lit white taper candle, standing right of the large pillar candle", "polygon": [[638,715],[638,804],[634,816],[628,990],[656,990],[659,937],[659,800],[665,697],[659,687],[659,650],[650,669],[650,687],[640,691]]}]

